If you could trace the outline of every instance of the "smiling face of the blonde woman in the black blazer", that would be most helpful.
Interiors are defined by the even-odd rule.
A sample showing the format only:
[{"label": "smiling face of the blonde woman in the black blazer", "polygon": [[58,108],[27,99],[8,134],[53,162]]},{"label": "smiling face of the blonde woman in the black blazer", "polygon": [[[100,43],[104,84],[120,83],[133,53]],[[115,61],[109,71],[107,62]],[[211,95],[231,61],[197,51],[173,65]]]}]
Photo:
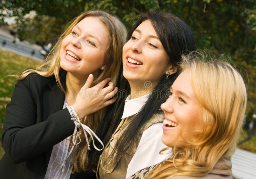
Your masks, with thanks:
[{"label": "smiling face of the blonde woman in the black blazer", "polygon": [[84,18],[61,42],[60,67],[80,76],[97,72],[104,64],[108,39],[108,29],[98,17]]}]

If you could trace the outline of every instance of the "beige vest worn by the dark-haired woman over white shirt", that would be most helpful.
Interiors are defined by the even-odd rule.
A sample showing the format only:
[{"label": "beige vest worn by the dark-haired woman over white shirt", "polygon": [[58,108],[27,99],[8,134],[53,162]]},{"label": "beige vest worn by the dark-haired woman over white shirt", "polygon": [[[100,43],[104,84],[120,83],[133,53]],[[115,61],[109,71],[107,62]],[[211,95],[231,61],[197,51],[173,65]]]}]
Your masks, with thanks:
[{"label": "beige vest worn by the dark-haired woman over white shirt", "polygon": [[100,160],[98,162],[97,179],[125,179],[128,164],[132,160],[132,157],[139,145],[143,131],[145,131],[151,125],[155,123],[161,123],[164,120],[163,114],[153,115],[148,123],[140,129],[140,132],[138,134],[139,138],[137,141],[134,141],[132,149],[128,153],[120,156],[117,156],[115,153],[113,158],[106,162],[108,156],[112,153],[113,148],[121,137],[123,131],[128,127],[128,124],[131,122],[134,116],[122,119],[116,131],[113,133],[112,138],[105,146],[105,149],[103,150],[100,156]]}]

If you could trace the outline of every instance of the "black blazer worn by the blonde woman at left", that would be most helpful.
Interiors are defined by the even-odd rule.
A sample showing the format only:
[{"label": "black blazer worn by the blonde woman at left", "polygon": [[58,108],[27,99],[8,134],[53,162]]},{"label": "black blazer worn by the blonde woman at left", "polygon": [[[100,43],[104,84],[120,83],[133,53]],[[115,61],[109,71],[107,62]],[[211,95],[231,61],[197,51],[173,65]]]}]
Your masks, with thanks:
[{"label": "black blazer worn by the blonde woman at left", "polygon": [[[60,79],[65,89],[66,71]],[[54,76],[30,74],[17,81],[6,106],[1,179],[44,179],[53,145],[72,135],[75,129],[68,109],[62,109],[64,99],[65,93]]]}]

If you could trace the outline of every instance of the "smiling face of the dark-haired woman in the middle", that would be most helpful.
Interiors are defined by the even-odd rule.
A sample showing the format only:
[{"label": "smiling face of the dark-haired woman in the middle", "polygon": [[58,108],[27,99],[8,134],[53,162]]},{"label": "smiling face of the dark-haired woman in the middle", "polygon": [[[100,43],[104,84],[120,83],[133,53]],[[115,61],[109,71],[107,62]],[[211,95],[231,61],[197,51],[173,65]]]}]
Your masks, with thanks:
[{"label": "smiling face of the dark-haired woman in the middle", "polygon": [[124,78],[129,83],[156,86],[172,65],[150,20],[143,21],[123,47]]}]

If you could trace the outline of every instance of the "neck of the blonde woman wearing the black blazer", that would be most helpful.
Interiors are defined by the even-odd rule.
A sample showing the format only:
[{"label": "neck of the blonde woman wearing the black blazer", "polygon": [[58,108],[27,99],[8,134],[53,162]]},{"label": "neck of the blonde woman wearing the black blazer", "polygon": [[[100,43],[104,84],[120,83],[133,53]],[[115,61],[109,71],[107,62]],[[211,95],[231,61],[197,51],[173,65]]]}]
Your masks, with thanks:
[{"label": "neck of the blonde woman wearing the black blazer", "polygon": [[73,105],[76,102],[76,96],[80,92],[81,88],[84,86],[88,76],[89,75],[79,78],[72,75],[70,72],[67,72],[65,100],[67,101],[69,106]]}]

